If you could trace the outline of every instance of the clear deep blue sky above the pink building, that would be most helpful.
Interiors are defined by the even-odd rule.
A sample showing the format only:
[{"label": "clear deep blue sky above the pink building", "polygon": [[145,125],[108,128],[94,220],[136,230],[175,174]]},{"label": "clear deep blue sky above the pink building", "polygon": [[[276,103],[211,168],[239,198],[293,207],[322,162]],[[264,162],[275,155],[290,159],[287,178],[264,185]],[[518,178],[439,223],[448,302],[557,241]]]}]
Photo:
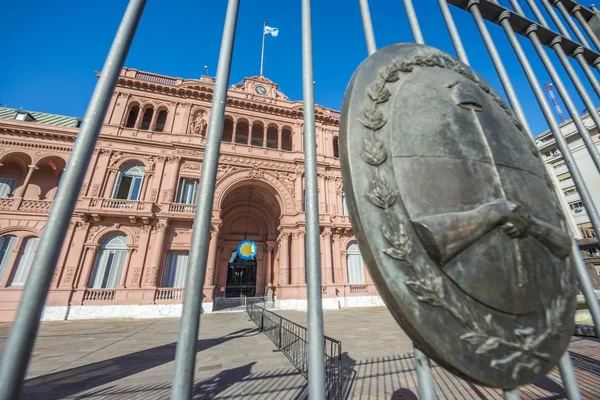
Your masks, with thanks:
[{"label": "clear deep blue sky above the pink building", "polygon": [[[226,3],[226,0],[149,0],[125,65],[181,78],[198,77],[204,74],[207,65],[209,73],[214,75]],[[414,3],[427,44],[454,54],[437,0]],[[591,1],[582,3],[589,6]],[[96,83],[94,72],[102,68],[126,4],[124,0],[31,0],[24,8],[17,1],[5,2],[0,103],[83,116]],[[470,14],[451,8],[472,66],[503,93]],[[371,13],[379,47],[412,41],[402,1],[372,0]],[[278,38],[266,39],[265,76],[279,83],[291,99],[299,100],[302,97],[299,0],[241,1],[230,83],[258,75],[263,21],[279,28]],[[545,130],[543,116],[503,31],[493,24],[488,26],[534,132]],[[313,33],[315,100],[339,110],[352,73],[367,55],[358,1],[313,1]],[[522,43],[540,80],[549,81],[532,46],[526,40]],[[557,61],[552,51],[548,53]],[[559,70],[571,88],[568,77],[562,68]],[[583,103],[573,97],[577,109],[583,110]],[[594,101],[597,100],[594,96]],[[563,110],[566,113],[564,106]]]}]

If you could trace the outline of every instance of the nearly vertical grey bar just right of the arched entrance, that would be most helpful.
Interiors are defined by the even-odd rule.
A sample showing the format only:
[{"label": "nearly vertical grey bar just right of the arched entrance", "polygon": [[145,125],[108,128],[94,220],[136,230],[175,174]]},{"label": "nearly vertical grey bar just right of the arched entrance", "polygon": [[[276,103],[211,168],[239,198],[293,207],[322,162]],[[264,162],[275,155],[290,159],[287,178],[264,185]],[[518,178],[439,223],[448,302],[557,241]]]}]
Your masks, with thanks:
[{"label": "nearly vertical grey bar just right of the arched entrance", "polygon": [[306,179],[306,264],[308,265],[308,396],[310,399],[321,399],[325,395],[325,363],[310,0],[302,0],[302,97],[304,100],[304,178]]}]

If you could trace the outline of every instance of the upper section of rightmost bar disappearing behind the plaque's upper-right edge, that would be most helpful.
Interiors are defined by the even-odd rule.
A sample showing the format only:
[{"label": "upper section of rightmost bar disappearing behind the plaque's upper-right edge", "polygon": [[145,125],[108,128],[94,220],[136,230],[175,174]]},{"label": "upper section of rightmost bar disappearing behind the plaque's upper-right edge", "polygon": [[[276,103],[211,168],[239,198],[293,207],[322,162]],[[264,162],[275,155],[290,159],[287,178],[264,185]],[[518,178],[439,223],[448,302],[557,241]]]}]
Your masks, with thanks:
[{"label": "upper section of rightmost bar disappearing behind the plaque's upper-right edge", "polygon": [[508,77],[508,73],[506,72],[506,68],[504,67],[504,63],[502,62],[502,58],[496,49],[496,45],[494,44],[494,40],[488,31],[485,21],[481,16],[479,11],[479,6],[477,2],[472,2],[469,11],[473,15],[473,19],[475,20],[475,24],[481,33],[481,37],[483,38],[483,42],[485,43],[485,47],[490,54],[490,58],[492,59],[492,63],[494,64],[494,68],[496,69],[496,73],[500,78],[500,82],[502,83],[502,87],[504,88],[504,92],[506,93],[506,97],[508,98],[508,102],[512,107],[513,111],[517,115],[517,118],[521,121],[521,124],[525,128],[525,130],[531,135],[531,128],[529,127],[529,123],[527,122],[527,118],[525,117],[525,113],[523,112],[523,108],[521,107],[521,103],[515,93],[515,89]]}]

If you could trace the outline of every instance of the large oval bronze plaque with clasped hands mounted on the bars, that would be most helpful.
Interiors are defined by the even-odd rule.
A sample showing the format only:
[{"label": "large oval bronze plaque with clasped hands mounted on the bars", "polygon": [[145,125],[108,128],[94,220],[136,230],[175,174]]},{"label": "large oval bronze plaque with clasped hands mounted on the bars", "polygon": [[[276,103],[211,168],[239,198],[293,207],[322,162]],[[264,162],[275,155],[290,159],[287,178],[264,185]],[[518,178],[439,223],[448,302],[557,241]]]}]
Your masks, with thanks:
[{"label": "large oval bronze plaque with clasped hands mounted on the bars", "polygon": [[354,233],[415,344],[503,389],[556,366],[573,332],[572,242],[501,97],[437,49],[391,45],[352,77],[340,144]]}]

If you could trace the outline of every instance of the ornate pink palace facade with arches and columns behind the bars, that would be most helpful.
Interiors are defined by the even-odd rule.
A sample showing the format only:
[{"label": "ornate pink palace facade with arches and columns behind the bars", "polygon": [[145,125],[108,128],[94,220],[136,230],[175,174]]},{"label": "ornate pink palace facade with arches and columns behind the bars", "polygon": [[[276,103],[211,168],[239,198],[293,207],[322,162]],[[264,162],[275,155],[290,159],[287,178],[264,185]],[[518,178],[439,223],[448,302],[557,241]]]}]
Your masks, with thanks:
[{"label": "ornate pink palace facade with arches and columns behind the bars", "polygon": [[[123,69],[64,238],[45,320],[178,316],[214,81]],[[264,77],[228,90],[203,312],[242,295],[306,308],[303,104]],[[0,319],[33,265],[79,120],[0,113]],[[382,304],[347,216],[339,113],[316,106],[323,306]],[[256,243],[254,260],[236,255]]]}]

